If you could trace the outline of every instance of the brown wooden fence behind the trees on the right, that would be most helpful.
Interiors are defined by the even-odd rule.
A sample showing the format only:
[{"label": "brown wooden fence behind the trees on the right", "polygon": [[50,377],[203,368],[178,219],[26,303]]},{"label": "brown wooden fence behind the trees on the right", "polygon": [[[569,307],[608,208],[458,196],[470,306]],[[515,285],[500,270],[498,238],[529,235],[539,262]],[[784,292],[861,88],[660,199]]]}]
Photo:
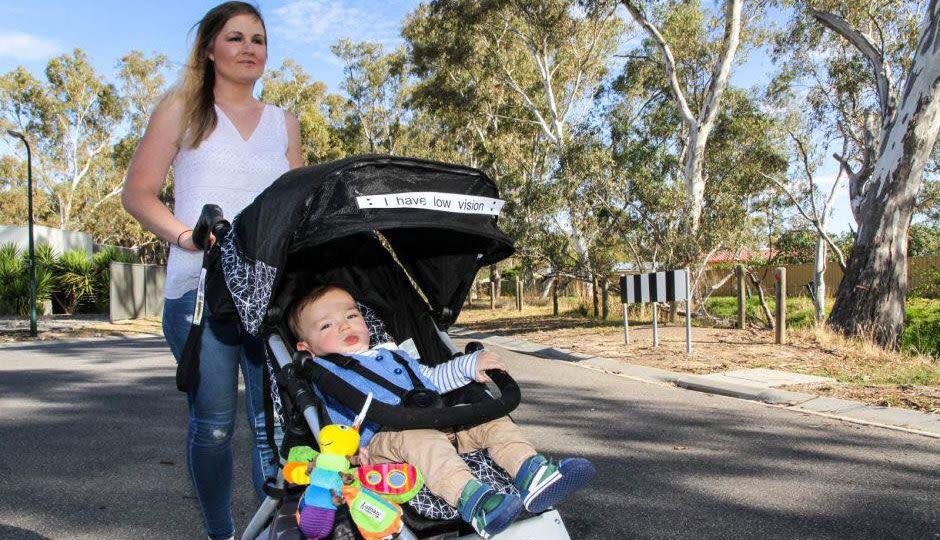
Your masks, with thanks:
[{"label": "brown wooden fence behind the trees on the right", "polygon": [[[806,284],[814,281],[814,265],[792,264],[784,268],[787,269],[787,296],[806,295]],[[927,278],[927,273],[930,270],[936,271],[938,269],[940,269],[940,257],[910,257],[907,260],[908,290],[917,288]],[[754,268],[753,271],[754,275],[760,279],[764,290],[772,291],[774,288],[774,269],[772,267],[758,267]],[[733,269],[707,270],[702,285],[708,287],[713,283],[718,283],[732,272],[734,272]],[[842,282],[842,269],[839,268],[838,263],[829,262],[826,266],[824,279],[826,280],[827,294],[829,296],[835,295],[839,283]],[[750,286],[750,283],[748,285]],[[735,294],[734,278],[726,281],[712,293],[713,296],[734,296]]]}]

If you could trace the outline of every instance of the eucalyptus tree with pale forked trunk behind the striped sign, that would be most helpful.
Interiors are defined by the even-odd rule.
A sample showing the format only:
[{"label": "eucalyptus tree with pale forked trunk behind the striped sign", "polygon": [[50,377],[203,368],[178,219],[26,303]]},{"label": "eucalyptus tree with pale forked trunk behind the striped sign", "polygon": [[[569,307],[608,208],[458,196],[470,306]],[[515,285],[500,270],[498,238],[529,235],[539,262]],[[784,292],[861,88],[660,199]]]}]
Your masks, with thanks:
[{"label": "eucalyptus tree with pale forked trunk behind the striped sign", "polygon": [[[764,223],[755,210],[769,184],[761,173],[785,170],[786,159],[772,138],[776,119],[761,110],[756,96],[726,87],[720,107],[715,105],[716,59],[727,52],[714,37],[719,20],[696,2],[657,4],[654,13],[658,26],[649,24],[661,40],[647,39],[628,51],[611,86],[615,156],[621,175],[630,179],[621,203],[629,214],[625,236],[638,265],[689,266],[697,285],[711,254],[757,242],[756,227]],[[751,31],[744,42],[751,47],[760,37]],[[663,69],[663,43],[670,70]],[[700,203],[690,199],[685,174],[690,129],[688,115],[676,106],[677,84],[690,110],[702,111],[705,119],[714,114],[708,153],[702,154]],[[694,226],[692,207],[699,204]]]}]

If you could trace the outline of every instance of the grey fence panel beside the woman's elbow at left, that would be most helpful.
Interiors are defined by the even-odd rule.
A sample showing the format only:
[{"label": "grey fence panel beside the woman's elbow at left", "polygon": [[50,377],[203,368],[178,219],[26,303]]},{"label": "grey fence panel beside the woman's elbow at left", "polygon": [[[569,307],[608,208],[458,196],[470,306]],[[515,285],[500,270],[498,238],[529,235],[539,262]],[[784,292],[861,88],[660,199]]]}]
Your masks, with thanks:
[{"label": "grey fence panel beside the woman's elbow at left", "polygon": [[158,317],[163,311],[165,281],[165,266],[112,262],[111,320]]}]

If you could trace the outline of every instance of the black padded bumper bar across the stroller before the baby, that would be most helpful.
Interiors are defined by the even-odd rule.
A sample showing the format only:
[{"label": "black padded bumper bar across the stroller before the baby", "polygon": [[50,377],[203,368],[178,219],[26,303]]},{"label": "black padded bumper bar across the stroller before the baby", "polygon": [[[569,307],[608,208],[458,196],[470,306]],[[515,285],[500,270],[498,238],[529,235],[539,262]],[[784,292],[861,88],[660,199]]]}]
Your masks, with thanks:
[{"label": "black padded bumper bar across the stroller before the baby", "polygon": [[[313,362],[305,368],[310,370],[310,374],[323,393],[333,396],[350,410],[362,409],[366,396],[354,386]],[[499,388],[499,397],[467,405],[441,408],[401,407],[376,400],[369,407],[366,420],[392,429],[439,429],[481,424],[506,416],[515,410],[522,400],[519,385],[505,371],[487,370],[486,374]]]}]

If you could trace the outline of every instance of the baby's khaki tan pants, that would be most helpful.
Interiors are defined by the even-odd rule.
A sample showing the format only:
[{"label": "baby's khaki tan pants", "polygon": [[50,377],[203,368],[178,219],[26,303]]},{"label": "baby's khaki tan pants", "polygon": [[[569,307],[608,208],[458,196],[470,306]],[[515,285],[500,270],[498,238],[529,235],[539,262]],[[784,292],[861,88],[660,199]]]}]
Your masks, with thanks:
[{"label": "baby's khaki tan pants", "polygon": [[522,430],[509,419],[497,418],[464,431],[458,431],[457,449],[447,434],[435,429],[380,431],[369,445],[371,463],[406,462],[424,474],[431,493],[456,507],[467,482],[473,479],[470,468],[457,453],[486,449],[497,465],[515,478],[535,448],[523,437]]}]

